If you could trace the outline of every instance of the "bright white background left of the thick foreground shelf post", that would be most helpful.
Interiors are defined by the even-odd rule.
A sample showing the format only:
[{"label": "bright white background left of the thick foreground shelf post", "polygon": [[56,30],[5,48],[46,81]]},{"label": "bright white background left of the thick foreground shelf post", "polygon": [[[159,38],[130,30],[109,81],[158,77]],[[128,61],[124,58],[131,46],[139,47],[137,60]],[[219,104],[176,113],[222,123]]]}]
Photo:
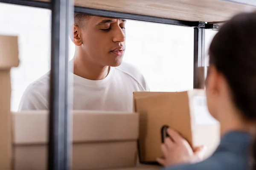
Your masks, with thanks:
[{"label": "bright white background left of the thick foreground shelf post", "polygon": [[51,11],[0,3],[0,16],[0,34],[18,36],[20,65],[11,71],[11,110],[17,111],[26,87],[50,69]]}]

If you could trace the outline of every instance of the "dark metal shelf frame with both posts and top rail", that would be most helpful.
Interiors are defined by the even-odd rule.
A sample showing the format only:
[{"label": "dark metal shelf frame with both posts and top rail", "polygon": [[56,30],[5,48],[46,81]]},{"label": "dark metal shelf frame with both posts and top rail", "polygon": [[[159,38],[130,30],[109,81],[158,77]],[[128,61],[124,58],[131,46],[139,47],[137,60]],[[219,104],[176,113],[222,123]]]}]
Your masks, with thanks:
[{"label": "dark metal shelf frame with both posts and top rail", "polygon": [[172,20],[73,6],[73,2],[70,0],[52,0],[51,2],[35,0],[0,0],[0,3],[52,10],[48,170],[71,169],[70,158],[72,153],[71,142],[69,141],[69,139],[71,139],[71,120],[69,119],[70,83],[68,78],[68,29],[73,18],[70,16],[73,13],[72,11],[101,17],[115,17],[127,20],[193,27],[194,88],[200,88],[198,83],[198,67],[204,66],[205,29],[218,29],[217,24],[207,24],[206,22]]}]

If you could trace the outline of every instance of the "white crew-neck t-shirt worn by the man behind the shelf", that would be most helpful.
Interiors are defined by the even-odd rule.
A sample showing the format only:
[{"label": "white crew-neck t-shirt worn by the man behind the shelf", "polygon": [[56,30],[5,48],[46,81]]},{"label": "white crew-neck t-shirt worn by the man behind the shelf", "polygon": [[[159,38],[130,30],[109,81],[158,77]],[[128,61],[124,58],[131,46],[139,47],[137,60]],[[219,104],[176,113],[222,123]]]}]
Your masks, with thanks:
[{"label": "white crew-neck t-shirt worn by the man behind the shelf", "polygon": [[[134,91],[149,91],[143,75],[122,63],[111,67],[102,80],[89,80],[72,74],[73,110],[132,111]],[[30,84],[24,92],[19,111],[49,110],[49,72]]]}]

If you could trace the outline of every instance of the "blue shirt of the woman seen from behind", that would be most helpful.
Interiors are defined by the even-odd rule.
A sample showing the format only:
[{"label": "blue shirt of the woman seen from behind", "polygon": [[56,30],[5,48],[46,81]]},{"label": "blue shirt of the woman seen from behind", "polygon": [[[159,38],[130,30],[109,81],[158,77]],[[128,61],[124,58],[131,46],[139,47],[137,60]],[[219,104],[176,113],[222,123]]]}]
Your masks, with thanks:
[{"label": "blue shirt of the woman seen from behind", "polygon": [[208,159],[195,164],[166,167],[164,170],[250,170],[249,155],[253,136],[241,131],[226,133]]}]

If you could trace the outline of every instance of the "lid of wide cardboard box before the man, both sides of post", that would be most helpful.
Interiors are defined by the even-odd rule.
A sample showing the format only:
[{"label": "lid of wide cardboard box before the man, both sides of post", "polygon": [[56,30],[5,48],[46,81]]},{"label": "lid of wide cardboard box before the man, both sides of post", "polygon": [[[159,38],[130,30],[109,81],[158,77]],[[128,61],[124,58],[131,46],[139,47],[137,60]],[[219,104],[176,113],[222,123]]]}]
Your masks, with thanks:
[{"label": "lid of wide cardboard box before the man, both sides of post", "polygon": [[[48,141],[48,111],[12,113],[14,144]],[[73,142],[137,140],[137,113],[73,111]]]}]

